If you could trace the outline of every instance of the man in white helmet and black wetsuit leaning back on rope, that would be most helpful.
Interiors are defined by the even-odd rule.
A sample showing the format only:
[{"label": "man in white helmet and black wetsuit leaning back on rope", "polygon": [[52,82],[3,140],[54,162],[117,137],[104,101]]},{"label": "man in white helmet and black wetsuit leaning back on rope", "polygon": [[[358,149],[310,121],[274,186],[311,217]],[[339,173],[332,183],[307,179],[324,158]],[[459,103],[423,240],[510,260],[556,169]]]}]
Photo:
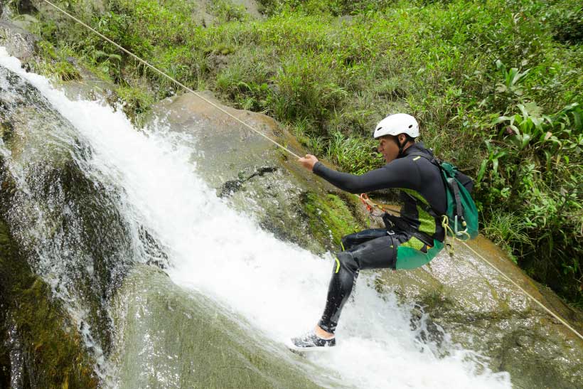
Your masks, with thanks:
[{"label": "man in white helmet and black wetsuit leaning back on rope", "polygon": [[[334,333],[341,311],[350,296],[358,272],[365,269],[414,269],[427,264],[444,247],[448,211],[446,182],[432,151],[419,137],[419,124],[410,114],[391,114],[381,120],[373,137],[387,164],[357,176],[329,169],[316,156],[307,154],[298,161],[314,174],[350,193],[399,188],[403,205],[400,217],[385,213],[385,228],[363,230],[341,240],[328,286],[326,307],[320,321],[305,336],[291,339],[301,351],[335,346]],[[471,180],[456,176],[464,185]],[[465,181],[465,182],[464,182]]]}]

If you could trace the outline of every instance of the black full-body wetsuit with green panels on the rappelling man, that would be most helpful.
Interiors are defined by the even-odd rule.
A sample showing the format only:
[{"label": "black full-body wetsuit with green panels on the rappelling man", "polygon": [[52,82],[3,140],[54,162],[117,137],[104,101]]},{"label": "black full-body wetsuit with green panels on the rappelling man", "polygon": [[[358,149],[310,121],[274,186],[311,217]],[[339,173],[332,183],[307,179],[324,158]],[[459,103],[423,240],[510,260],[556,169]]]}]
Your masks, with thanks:
[{"label": "black full-body wetsuit with green panels on the rappelling man", "polygon": [[446,212],[444,181],[436,165],[412,155],[419,152],[432,156],[417,142],[400,158],[361,176],[328,169],[320,162],[314,165],[314,174],[351,193],[400,188],[403,203],[400,218],[385,214],[387,228],[363,230],[342,238],[343,251],[336,254],[326,308],[319,321],[322,329],[331,333],[336,330],[359,270],[419,267],[442,249],[444,229],[439,215]]}]

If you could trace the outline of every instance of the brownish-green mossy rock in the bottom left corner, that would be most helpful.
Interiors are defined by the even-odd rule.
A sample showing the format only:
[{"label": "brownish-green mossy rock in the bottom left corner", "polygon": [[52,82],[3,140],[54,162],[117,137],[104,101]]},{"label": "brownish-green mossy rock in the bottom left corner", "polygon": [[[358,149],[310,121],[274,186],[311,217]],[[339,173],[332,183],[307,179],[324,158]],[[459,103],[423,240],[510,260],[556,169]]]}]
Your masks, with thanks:
[{"label": "brownish-green mossy rock in the bottom left corner", "polygon": [[[14,325],[21,343],[23,377],[34,388],[96,388],[95,361],[50,287],[33,275],[0,219],[0,317],[2,338]],[[10,317],[10,319],[9,319]],[[11,321],[9,324],[8,321]],[[4,343],[4,342],[2,342]],[[0,383],[11,379],[10,346],[0,348]]]}]

